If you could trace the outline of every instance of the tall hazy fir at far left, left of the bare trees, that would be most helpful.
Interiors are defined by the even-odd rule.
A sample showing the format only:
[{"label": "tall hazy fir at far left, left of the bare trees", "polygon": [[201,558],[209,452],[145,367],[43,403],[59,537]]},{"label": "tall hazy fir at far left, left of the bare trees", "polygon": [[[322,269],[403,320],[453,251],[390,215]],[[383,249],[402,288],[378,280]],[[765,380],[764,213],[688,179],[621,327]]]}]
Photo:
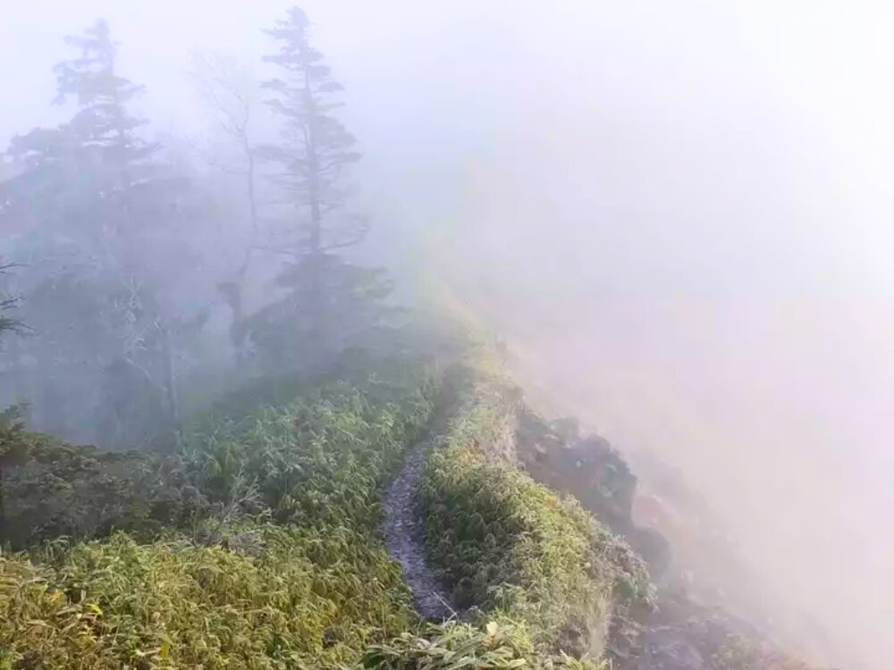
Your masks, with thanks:
[{"label": "tall hazy fir at far left, left of the bare trees", "polygon": [[[38,337],[22,347],[36,361],[30,386],[42,427],[72,435],[69,417],[86,413],[97,429],[84,437],[132,445],[177,415],[157,274],[159,258],[166,272],[176,264],[172,205],[183,185],[150,160],[157,146],[128,109],[142,87],[117,73],[105,21],[66,42],[77,55],[55,66],[55,102],[75,112],[56,129],[13,138],[18,174],[2,185],[0,217],[21,230],[21,260],[33,271],[23,314]],[[63,390],[72,383],[93,398]]]}]

